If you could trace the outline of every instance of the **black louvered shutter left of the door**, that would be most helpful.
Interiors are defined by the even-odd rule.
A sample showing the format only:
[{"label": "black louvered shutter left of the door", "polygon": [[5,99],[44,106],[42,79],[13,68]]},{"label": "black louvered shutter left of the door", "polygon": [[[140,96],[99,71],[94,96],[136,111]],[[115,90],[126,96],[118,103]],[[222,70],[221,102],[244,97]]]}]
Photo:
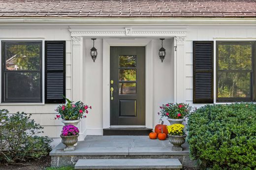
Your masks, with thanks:
[{"label": "black louvered shutter left of the door", "polygon": [[65,41],[45,41],[45,103],[65,103]]}]

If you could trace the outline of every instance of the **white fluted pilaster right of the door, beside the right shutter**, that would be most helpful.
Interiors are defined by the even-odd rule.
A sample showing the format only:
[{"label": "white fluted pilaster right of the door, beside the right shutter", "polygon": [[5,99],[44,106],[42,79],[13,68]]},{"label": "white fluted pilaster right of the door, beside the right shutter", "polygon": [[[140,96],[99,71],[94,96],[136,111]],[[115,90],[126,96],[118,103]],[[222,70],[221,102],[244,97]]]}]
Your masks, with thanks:
[{"label": "white fluted pilaster right of the door, beside the right shutter", "polygon": [[185,61],[184,61],[184,41],[185,36],[176,37],[176,70],[175,70],[175,102],[186,102],[186,88],[185,88]]}]

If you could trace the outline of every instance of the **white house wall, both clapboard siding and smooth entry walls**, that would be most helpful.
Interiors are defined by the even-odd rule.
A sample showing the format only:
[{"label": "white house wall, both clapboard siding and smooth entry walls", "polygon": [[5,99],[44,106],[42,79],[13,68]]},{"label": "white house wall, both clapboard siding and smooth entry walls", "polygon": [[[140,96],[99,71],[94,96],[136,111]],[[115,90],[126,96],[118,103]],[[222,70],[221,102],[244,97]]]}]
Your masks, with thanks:
[{"label": "white house wall, both clapboard siding and smooth entry walls", "polygon": [[[164,28],[164,27],[163,27]],[[256,40],[255,26],[189,26],[187,37],[185,39],[185,84],[186,101],[192,106],[201,106],[192,104],[192,41],[217,40],[222,38],[227,40]],[[66,96],[72,96],[72,61],[71,61],[71,37],[68,27],[0,27],[0,40],[10,39],[42,39],[42,40],[65,40],[66,41]],[[94,63],[90,56],[92,40],[84,39],[84,91],[83,102],[91,105],[93,109],[86,118],[87,134],[102,134],[102,39],[95,41],[95,47],[98,50],[98,56]],[[160,61],[158,50],[161,42],[159,39],[152,39],[153,47],[153,116],[154,125],[159,122],[160,109],[163,103],[174,102],[174,41],[165,39],[163,46],[166,49],[166,57],[163,62]],[[61,120],[55,120],[54,109],[58,105],[0,105],[0,109],[8,109],[10,113],[18,111],[32,113],[32,118],[44,127],[45,134],[50,138],[59,138],[63,123]],[[166,122],[167,123],[167,122]],[[84,128],[84,127],[83,127]]]}]

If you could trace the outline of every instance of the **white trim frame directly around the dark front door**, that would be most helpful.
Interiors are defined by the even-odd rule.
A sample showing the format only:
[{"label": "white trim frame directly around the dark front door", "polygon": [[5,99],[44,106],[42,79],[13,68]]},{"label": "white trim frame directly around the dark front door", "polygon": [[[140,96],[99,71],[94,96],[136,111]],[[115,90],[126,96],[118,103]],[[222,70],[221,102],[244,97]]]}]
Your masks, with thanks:
[{"label": "white trim frame directly around the dark front door", "polygon": [[153,128],[153,54],[151,39],[103,39],[103,129],[110,127],[110,46],[145,46],[146,128]]}]

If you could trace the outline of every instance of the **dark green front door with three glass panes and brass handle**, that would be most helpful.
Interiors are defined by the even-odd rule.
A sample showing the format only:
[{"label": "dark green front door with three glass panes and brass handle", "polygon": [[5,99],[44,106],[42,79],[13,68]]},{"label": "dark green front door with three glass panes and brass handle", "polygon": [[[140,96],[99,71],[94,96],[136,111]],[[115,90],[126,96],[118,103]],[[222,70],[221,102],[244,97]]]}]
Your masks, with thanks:
[{"label": "dark green front door with three glass panes and brass handle", "polygon": [[145,47],[110,47],[110,125],[145,125]]}]

